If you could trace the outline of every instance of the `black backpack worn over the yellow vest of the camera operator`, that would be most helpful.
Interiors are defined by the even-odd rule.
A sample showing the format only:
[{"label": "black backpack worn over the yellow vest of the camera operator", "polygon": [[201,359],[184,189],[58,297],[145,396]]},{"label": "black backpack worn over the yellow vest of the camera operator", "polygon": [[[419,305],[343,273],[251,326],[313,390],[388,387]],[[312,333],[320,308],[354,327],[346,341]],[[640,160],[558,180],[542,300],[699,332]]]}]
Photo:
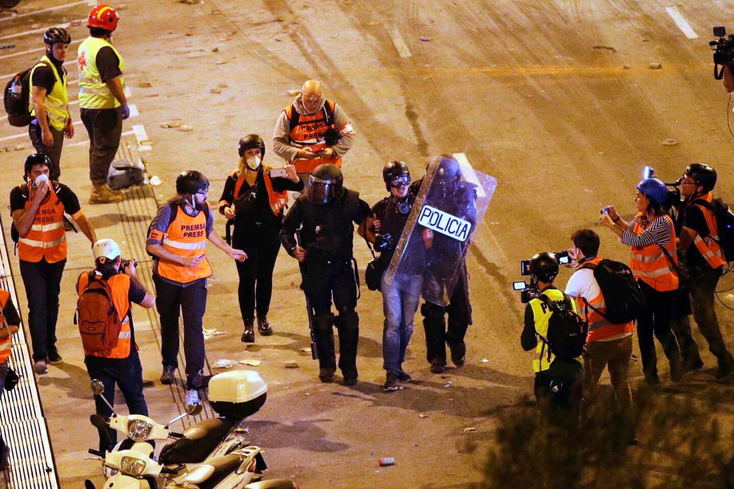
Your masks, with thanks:
[{"label": "black backpack worn over the yellow vest of the camera operator", "polygon": [[584,353],[589,325],[573,311],[572,299],[566,294],[563,295],[566,309],[557,306],[548,295],[541,294],[539,299],[548,306],[548,309],[551,309],[546,337],[538,334],[540,339],[548,345],[548,359],[551,358],[551,353],[556,356],[556,359],[562,361],[573,360],[581,356],[581,353]]}]

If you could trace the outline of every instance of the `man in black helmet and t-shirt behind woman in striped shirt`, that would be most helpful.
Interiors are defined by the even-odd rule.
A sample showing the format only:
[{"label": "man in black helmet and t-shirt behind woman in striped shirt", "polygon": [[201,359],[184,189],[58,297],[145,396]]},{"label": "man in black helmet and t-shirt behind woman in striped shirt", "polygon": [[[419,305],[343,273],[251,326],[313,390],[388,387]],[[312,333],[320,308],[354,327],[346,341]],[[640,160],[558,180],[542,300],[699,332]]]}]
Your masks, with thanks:
[{"label": "man in black helmet and t-shirt behind woman in striped shirt", "polygon": [[724,344],[713,307],[716,284],[726,265],[726,258],[719,246],[716,217],[709,208],[713,202],[711,191],[715,185],[716,170],[711,166],[702,163],[688,165],[680,185],[684,200],[676,231],[680,236],[677,247],[686,253],[690,272],[688,290],[691,293],[694,319],[708,341],[708,349],[719,362],[716,378],[724,379],[734,372],[734,358]]}]

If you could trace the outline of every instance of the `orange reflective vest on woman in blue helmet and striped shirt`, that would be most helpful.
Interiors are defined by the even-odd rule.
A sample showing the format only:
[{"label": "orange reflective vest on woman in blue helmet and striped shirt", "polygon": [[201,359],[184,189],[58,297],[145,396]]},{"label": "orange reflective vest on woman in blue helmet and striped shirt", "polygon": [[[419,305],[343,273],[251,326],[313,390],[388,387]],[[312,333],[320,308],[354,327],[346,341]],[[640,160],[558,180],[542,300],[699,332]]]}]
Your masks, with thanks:
[{"label": "orange reflective vest on woman in blue helmet and striped shirt", "polygon": [[[634,234],[639,235],[643,228],[639,223],[642,213],[637,215],[637,221],[633,229]],[[675,250],[675,229],[673,221],[667,214],[663,216],[670,226],[670,239],[665,249],[670,257],[678,262],[677,251]],[[651,244],[642,248],[631,247],[630,268],[634,273],[635,279],[641,279],[642,282],[650,285],[658,292],[669,292],[678,288],[678,276],[670,268],[668,258],[663,250],[657,244]]]}]

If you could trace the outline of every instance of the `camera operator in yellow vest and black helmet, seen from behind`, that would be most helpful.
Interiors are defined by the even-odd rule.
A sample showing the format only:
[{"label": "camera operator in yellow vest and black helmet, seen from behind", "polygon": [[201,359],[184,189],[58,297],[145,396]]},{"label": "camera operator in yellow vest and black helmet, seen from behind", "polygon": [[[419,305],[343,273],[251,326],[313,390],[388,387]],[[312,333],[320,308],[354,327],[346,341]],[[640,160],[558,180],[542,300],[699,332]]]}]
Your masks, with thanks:
[{"label": "camera operator in yellow vest and black helmet, seen from behind", "polygon": [[[529,271],[531,300],[525,308],[520,345],[526,351],[535,349],[538,355],[533,360],[533,372],[539,408],[548,414],[552,424],[573,429],[581,413],[583,360],[581,356],[568,360],[556,358],[548,343],[548,326],[556,312],[570,310],[578,314],[578,305],[553,285],[559,271],[555,254],[536,254],[530,260]],[[554,306],[549,304],[551,301]]]}]

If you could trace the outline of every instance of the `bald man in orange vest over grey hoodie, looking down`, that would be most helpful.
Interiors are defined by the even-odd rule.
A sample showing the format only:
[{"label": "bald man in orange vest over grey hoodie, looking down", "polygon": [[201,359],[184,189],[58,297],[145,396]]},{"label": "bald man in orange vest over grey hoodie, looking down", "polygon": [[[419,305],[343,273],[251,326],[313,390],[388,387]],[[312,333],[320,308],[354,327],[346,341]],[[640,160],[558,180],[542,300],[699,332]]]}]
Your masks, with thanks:
[{"label": "bald man in orange vest over grey hoodie, looking down", "polygon": [[278,117],[273,151],[296,166],[301,180],[321,163],[341,166],[341,157],[355,140],[352,122],[335,102],[324,98],[316,80],[309,80]]}]

